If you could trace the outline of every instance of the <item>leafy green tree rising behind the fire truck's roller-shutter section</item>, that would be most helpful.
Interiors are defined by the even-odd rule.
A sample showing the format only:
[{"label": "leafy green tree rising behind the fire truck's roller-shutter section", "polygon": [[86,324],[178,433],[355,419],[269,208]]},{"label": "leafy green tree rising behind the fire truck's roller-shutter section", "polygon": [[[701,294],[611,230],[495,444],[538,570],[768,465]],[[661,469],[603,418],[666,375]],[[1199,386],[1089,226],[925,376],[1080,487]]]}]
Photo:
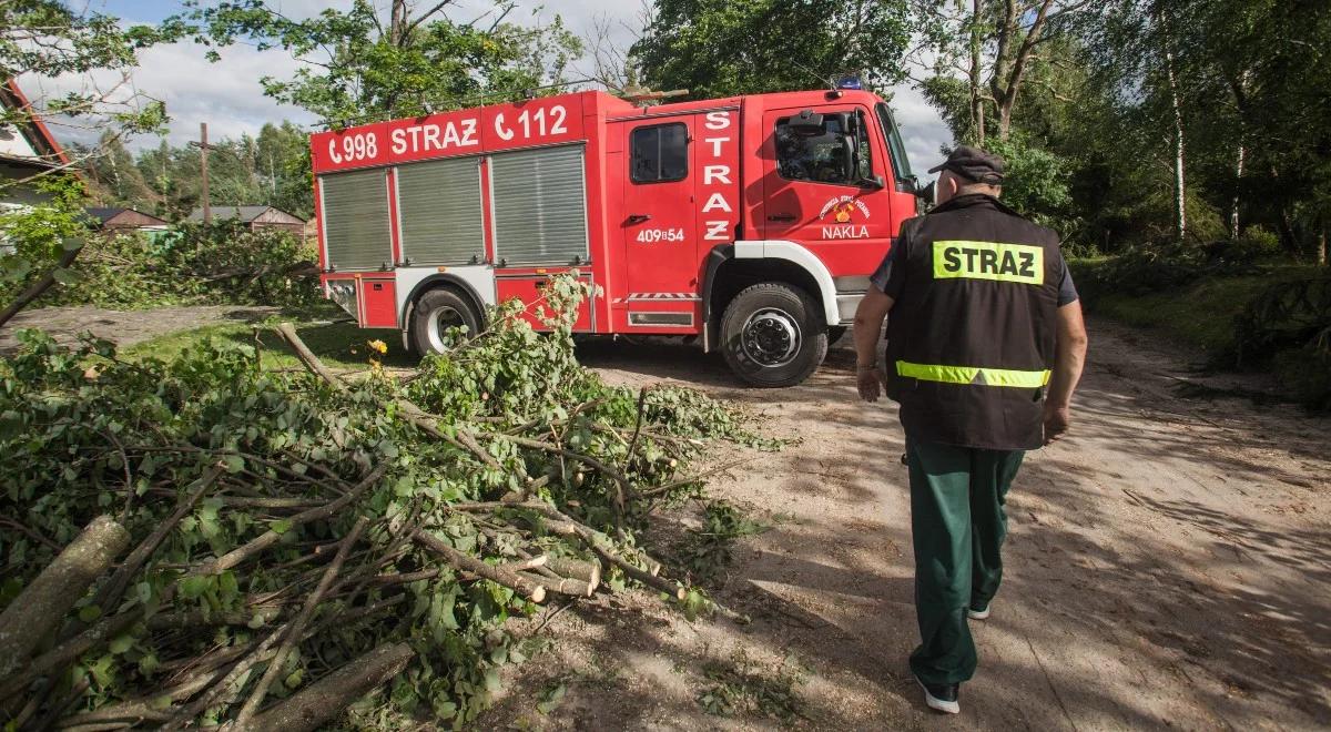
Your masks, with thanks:
[{"label": "leafy green tree rising behind the fire truck's roller-shutter section", "polygon": [[311,19],[282,15],[264,0],[198,7],[176,19],[194,25],[196,40],[216,48],[250,40],[282,48],[305,64],[291,79],[264,77],[268,96],[317,114],[323,125],[455,109],[482,98],[520,98],[558,88],[578,39],[559,16],[535,28],[507,21],[514,3],[500,3],[473,20],[445,15],[454,0],[418,9],[393,0],[381,17],[369,0],[350,9],[325,9]]}]

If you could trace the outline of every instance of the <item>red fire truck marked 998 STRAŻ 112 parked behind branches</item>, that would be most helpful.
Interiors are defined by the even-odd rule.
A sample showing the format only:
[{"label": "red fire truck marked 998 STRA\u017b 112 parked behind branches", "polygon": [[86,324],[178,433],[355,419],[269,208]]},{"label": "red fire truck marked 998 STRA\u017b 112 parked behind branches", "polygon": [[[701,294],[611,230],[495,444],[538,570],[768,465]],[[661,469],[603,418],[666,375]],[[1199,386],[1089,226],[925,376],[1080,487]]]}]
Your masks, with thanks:
[{"label": "red fire truck marked 998 STRA\u017b 112 parked behind branches", "polygon": [[639,108],[602,92],[315,133],[329,298],[407,347],[599,287],[576,329],[688,335],[744,381],[804,381],[916,213],[892,113],[865,91]]}]

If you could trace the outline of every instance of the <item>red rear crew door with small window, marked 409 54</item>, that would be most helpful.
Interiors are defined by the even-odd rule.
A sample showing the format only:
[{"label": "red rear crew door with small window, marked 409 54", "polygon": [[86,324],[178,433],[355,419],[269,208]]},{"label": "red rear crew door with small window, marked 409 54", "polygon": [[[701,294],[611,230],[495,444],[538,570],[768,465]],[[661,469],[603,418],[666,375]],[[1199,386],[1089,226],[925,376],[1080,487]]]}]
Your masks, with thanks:
[{"label": "red rear crew door with small window, marked 409 54", "polygon": [[[618,225],[624,242],[626,299],[675,299],[689,303],[679,310],[692,311],[699,262],[693,118],[634,120],[623,129],[627,170]],[[664,323],[669,318],[656,319]],[[684,323],[676,319],[671,325]]]}]

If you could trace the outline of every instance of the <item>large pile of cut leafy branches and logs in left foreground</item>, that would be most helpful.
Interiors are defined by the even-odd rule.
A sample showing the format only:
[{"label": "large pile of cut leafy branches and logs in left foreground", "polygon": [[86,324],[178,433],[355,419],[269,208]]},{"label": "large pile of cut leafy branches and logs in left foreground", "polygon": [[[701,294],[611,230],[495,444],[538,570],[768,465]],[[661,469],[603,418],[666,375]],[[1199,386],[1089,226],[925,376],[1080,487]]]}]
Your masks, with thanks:
[{"label": "large pile of cut leafy branches and logs in left foreground", "polygon": [[401,382],[24,333],[0,363],[0,723],[461,724],[539,645],[511,619],[626,583],[696,600],[640,530],[701,490],[709,441],[759,441],[582,369],[579,287],[550,287],[554,335],[504,307]]}]

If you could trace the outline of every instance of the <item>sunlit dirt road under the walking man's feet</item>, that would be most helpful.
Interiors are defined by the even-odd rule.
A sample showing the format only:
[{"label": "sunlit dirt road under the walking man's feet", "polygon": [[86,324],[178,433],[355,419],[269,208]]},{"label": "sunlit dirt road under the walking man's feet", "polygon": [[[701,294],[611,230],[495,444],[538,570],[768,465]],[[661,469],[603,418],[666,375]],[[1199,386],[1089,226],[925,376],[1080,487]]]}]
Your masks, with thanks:
[{"label": "sunlit dirt road under the walking man's feet", "polygon": [[[855,401],[848,350],[833,350],[801,387],[751,391],[691,349],[584,347],[607,379],[701,386],[800,441],[744,455],[743,470],[712,484],[772,524],[740,543],[716,592],[753,623],[687,623],[654,600],[563,612],[546,628],[552,653],[510,679],[484,721],[1327,728],[1331,421],[1179,398],[1179,379],[1206,381],[1187,354],[1103,322],[1091,338],[1071,435],[1030,455],[1009,498],[1005,583],[993,618],[972,626],[980,671],[957,717],[924,711],[909,680],[917,631],[902,435],[893,409]],[[554,712],[532,711],[535,692],[556,688],[567,695]],[[705,713],[699,699],[719,688],[749,711]],[[763,716],[773,709],[797,716]]]}]

